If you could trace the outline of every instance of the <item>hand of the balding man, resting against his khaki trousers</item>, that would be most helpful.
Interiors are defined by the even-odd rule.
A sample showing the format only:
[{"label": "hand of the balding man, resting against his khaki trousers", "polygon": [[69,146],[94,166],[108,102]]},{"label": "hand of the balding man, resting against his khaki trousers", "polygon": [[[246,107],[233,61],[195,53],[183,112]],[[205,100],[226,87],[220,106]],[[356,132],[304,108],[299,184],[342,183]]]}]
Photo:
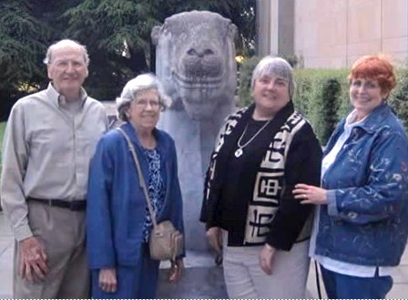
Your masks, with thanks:
[{"label": "hand of the balding man, resting against his khaki trousers", "polygon": [[20,276],[31,283],[44,280],[48,272],[44,245],[30,236],[18,243],[18,250]]}]

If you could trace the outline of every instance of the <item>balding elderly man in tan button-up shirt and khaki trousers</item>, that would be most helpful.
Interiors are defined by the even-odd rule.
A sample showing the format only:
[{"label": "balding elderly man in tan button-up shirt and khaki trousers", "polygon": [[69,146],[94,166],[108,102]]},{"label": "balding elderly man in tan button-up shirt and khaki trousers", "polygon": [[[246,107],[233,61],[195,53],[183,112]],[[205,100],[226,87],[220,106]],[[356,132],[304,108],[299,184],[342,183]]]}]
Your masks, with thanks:
[{"label": "balding elderly man in tan button-up shirt and khaki trousers", "polygon": [[87,173],[107,130],[87,97],[86,47],[48,48],[48,88],[19,99],[5,130],[2,204],[15,236],[14,298],[86,298]]}]

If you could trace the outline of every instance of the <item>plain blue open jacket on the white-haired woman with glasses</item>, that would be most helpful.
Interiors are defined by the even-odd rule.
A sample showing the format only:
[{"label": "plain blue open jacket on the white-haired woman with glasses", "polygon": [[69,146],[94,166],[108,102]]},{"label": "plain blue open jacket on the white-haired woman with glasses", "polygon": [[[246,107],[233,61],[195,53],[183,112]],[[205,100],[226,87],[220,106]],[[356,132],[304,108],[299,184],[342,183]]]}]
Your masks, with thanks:
[{"label": "plain blue open jacket on the white-haired woman with glasses", "polygon": [[[138,141],[136,130],[126,123],[124,129],[138,154],[148,182],[148,160]],[[182,200],[179,187],[177,154],[174,140],[154,129],[165,170],[166,198],[158,222],[170,220],[184,232]],[[87,255],[91,269],[136,265],[143,243],[146,199],[138,183],[138,171],[123,135],[112,129],[97,144],[90,163],[87,191]]]}]

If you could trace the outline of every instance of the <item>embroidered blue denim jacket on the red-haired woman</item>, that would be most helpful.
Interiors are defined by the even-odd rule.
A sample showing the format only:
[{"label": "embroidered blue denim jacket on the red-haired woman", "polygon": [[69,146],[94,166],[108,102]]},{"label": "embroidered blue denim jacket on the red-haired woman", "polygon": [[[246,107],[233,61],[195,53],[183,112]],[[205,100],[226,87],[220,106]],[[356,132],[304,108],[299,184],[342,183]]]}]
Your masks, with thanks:
[{"label": "embroidered blue denim jacket on the red-haired woman", "polygon": [[352,129],[321,185],[328,205],[321,206],[316,253],[351,264],[398,265],[408,235],[408,140],[387,104]]}]

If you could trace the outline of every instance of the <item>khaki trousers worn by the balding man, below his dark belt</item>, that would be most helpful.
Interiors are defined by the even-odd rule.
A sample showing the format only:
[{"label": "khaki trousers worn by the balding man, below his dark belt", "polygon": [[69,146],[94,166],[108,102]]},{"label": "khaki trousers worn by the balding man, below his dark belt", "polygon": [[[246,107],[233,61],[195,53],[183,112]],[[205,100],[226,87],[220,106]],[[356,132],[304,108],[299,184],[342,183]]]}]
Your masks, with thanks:
[{"label": "khaki trousers worn by the balding man, below his dark belt", "polygon": [[30,228],[45,245],[48,273],[44,281],[36,283],[21,278],[15,243],[13,297],[88,298],[85,211],[73,212],[38,202],[27,205]]}]

